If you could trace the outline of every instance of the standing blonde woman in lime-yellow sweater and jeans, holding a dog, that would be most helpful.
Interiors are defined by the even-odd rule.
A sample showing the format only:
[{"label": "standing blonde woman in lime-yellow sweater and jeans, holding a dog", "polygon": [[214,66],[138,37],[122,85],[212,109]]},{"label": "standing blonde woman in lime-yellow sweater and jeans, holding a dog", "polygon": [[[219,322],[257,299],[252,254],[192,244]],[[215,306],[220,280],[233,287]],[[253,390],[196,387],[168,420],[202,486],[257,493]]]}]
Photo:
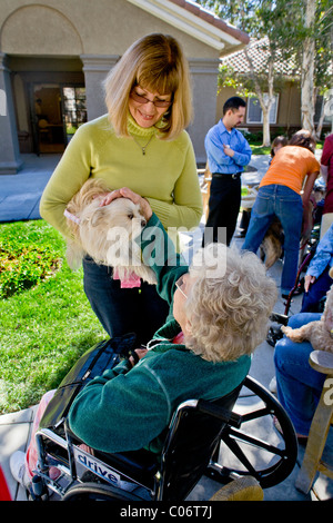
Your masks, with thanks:
[{"label": "standing blonde woman in lime-yellow sweater and jeans, holding a dog", "polygon": [[[105,82],[108,114],[79,128],[42,195],[41,216],[69,235],[64,208],[89,178],[145,197],[163,226],[196,227],[202,199],[193,147],[190,76],[176,40],[149,34],[134,42]],[[105,233],[107,234],[107,233]],[[155,287],[121,288],[112,268],[83,259],[84,290],[110,336],[135,332],[147,343],[165,319]],[[149,317],[150,322],[145,318]]]}]

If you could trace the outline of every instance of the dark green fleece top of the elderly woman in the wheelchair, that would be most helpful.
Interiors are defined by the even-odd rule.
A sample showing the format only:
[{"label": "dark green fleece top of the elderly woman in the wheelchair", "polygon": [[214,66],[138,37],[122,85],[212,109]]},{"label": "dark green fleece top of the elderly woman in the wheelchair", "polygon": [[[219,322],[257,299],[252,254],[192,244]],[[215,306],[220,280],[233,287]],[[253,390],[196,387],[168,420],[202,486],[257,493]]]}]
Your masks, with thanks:
[{"label": "dark green fleece top of the elderly woman in the wheelchair", "polygon": [[[154,228],[163,230],[155,215],[147,228],[151,229],[151,236]],[[154,250],[168,251],[168,264],[153,264],[152,268],[159,280],[159,293],[172,307],[174,283],[188,267],[179,255],[170,250],[171,241],[163,234],[162,241],[161,235],[155,235],[160,244],[154,246]],[[147,248],[148,243],[142,244],[145,262],[149,262],[151,253],[150,260],[155,259],[153,250]],[[174,344],[179,333],[179,324],[170,318],[154,335],[152,348],[133,368],[122,362],[92,379],[71,406],[71,430],[100,451],[113,453],[145,447],[160,452],[158,436],[169,425],[181,402],[223,396],[244,379],[250,368],[250,356],[241,356],[234,362],[208,362],[184,345]]]}]

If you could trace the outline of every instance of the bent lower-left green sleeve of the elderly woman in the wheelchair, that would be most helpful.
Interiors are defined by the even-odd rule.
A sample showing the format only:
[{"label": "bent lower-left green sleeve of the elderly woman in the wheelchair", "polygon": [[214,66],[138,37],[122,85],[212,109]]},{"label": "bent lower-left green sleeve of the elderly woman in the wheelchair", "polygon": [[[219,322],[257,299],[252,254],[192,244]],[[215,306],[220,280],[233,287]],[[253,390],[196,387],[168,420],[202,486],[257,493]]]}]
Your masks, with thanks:
[{"label": "bent lower-left green sleeve of the elderly woman in the wheelchair", "polygon": [[114,377],[107,371],[90,382],[69,412],[71,430],[85,444],[104,452],[148,446],[170,421],[163,387],[144,365]]}]

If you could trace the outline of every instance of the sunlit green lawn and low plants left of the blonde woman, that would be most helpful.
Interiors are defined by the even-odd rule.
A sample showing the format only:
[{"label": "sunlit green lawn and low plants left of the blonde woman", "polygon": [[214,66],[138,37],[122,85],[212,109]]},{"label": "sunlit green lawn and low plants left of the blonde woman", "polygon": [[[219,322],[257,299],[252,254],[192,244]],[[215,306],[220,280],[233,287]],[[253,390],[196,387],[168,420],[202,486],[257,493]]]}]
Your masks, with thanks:
[{"label": "sunlit green lawn and low plants left of the blonde woman", "polygon": [[[6,287],[9,273],[16,276]],[[0,226],[1,414],[38,403],[105,337],[82,279],[82,269],[68,267],[61,235],[43,220]]]}]

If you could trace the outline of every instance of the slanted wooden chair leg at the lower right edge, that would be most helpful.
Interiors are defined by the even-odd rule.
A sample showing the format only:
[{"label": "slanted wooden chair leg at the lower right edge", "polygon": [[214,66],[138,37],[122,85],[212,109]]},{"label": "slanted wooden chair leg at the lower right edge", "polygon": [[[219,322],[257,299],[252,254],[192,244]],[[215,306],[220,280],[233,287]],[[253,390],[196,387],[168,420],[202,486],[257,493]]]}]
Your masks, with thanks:
[{"label": "slanted wooden chair leg at the lower right edge", "polygon": [[305,494],[312,487],[315,474],[319,471],[319,464],[331,425],[333,407],[325,404],[325,394],[326,391],[323,388],[320,403],[312,420],[303,463],[295,482],[296,489]]}]

